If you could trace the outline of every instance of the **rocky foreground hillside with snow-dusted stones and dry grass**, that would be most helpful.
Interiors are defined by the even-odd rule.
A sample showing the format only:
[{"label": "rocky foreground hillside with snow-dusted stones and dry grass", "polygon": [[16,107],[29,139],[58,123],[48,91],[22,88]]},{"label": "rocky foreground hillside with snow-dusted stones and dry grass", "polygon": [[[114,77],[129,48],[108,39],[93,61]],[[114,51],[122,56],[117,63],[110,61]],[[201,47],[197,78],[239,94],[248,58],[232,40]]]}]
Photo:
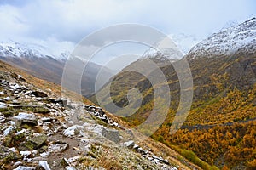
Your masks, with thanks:
[{"label": "rocky foreground hillside with snow-dusted stones and dry grass", "polygon": [[0,72],[0,169],[189,169],[155,156],[94,105]]}]

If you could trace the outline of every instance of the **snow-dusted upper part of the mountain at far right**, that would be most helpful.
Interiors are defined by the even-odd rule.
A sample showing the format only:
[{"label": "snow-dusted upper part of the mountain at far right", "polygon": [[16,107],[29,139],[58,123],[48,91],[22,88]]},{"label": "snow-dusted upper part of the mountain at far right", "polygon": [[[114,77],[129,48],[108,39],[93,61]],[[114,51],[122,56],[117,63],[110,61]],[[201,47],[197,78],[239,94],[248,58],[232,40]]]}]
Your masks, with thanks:
[{"label": "snow-dusted upper part of the mountain at far right", "polygon": [[212,34],[189,51],[189,58],[234,54],[240,49],[256,50],[256,18]]}]

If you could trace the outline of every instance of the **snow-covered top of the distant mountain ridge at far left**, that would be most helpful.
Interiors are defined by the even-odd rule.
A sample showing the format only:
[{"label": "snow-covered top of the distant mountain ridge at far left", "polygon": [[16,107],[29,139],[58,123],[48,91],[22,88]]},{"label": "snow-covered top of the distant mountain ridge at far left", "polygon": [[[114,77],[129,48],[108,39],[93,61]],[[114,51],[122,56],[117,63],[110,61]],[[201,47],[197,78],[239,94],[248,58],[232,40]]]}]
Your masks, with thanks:
[{"label": "snow-covered top of the distant mountain ridge at far left", "polygon": [[14,58],[44,58],[51,57],[56,60],[64,61],[68,58],[69,52],[62,52],[59,55],[51,54],[49,48],[44,46],[25,43],[25,42],[0,42],[0,56],[1,57],[14,57]]}]

